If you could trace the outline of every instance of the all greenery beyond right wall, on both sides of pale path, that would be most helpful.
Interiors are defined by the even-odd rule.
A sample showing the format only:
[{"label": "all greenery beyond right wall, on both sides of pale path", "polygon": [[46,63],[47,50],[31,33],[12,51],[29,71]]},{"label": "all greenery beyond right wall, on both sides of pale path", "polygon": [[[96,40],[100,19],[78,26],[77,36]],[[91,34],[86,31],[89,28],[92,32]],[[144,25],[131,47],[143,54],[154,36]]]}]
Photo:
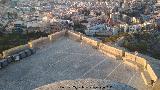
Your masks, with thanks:
[{"label": "all greenery beyond right wall, on both sides of pale path", "polygon": [[141,33],[120,33],[111,37],[105,38],[104,42],[117,43],[120,37],[124,37],[121,47],[125,47],[131,52],[138,51],[139,53],[149,55],[156,59],[160,59],[160,33],[159,32],[141,32]]}]

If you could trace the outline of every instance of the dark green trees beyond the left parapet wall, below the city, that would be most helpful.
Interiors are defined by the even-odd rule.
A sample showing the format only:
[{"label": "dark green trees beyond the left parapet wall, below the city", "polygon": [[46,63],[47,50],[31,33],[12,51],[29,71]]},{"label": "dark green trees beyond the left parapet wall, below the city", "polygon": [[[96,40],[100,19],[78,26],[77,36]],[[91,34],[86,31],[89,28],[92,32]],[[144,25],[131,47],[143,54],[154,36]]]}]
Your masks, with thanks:
[{"label": "dark green trees beyond the left parapet wall, below the city", "polygon": [[47,36],[44,32],[31,32],[27,34],[4,34],[0,36],[0,52],[13,48],[15,46],[23,45],[28,42],[28,40],[34,40],[39,37]]}]

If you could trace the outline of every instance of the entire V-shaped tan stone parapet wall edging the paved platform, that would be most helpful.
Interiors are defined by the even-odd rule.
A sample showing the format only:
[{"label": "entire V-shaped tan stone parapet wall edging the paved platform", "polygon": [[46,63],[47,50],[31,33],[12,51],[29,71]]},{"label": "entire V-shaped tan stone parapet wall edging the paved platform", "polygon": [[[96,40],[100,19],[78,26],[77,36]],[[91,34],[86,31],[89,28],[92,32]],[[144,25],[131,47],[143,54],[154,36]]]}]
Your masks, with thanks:
[{"label": "entire V-shaped tan stone parapet wall edging the paved platform", "polygon": [[104,53],[107,53],[107,55],[108,54],[113,55],[116,58],[118,57],[121,60],[129,61],[133,64],[136,64],[138,66],[138,68],[140,68],[142,70],[142,73],[143,73],[143,71],[148,72],[151,80],[153,80],[155,82],[155,84],[157,84],[157,82],[159,82],[160,77],[157,76],[156,71],[155,71],[155,67],[153,67],[152,64],[150,63],[150,61],[152,61],[152,60],[148,61],[145,57],[141,57],[141,56],[132,54],[132,53],[127,52],[125,50],[121,50],[117,47],[106,45],[104,43],[101,43],[100,41],[96,41],[96,40],[91,39],[87,36],[84,36],[81,33],[76,33],[76,32],[66,31],[66,30],[48,35],[48,37],[41,37],[39,39],[28,42],[28,44],[26,44],[26,45],[21,45],[21,46],[11,48],[9,50],[5,50],[5,51],[3,51],[3,57],[5,58],[7,56],[13,55],[13,54],[18,53],[18,52],[25,50],[27,48],[38,48],[41,45],[44,45],[44,44],[49,43],[51,41],[57,40],[58,38],[63,37],[65,35],[68,35],[68,37],[73,40],[79,40],[79,41],[87,43],[93,47],[97,47],[98,50],[100,50]]}]

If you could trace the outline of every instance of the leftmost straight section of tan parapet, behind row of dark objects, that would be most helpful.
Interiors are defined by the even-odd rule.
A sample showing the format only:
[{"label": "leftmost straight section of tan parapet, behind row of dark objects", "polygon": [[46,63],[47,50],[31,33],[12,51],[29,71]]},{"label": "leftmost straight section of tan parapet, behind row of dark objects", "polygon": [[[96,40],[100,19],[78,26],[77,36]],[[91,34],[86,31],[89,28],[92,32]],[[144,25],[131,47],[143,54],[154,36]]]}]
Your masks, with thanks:
[{"label": "leftmost straight section of tan parapet, behind row of dark objects", "polygon": [[18,53],[18,52],[25,50],[25,49],[28,49],[28,48],[29,48],[29,45],[25,44],[25,45],[20,45],[20,46],[5,50],[2,52],[3,58],[6,58],[7,56],[13,55],[15,53]]}]

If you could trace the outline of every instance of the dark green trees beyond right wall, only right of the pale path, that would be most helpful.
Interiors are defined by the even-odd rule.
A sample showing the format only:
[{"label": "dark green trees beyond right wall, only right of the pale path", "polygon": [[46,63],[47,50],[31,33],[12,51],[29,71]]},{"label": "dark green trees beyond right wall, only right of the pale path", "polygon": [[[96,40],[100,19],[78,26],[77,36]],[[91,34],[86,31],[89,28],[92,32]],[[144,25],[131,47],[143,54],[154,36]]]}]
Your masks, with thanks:
[{"label": "dark green trees beyond right wall, only right of the pale path", "polygon": [[123,47],[130,51],[138,51],[142,54],[160,59],[160,42],[157,33],[135,33],[125,38]]}]

